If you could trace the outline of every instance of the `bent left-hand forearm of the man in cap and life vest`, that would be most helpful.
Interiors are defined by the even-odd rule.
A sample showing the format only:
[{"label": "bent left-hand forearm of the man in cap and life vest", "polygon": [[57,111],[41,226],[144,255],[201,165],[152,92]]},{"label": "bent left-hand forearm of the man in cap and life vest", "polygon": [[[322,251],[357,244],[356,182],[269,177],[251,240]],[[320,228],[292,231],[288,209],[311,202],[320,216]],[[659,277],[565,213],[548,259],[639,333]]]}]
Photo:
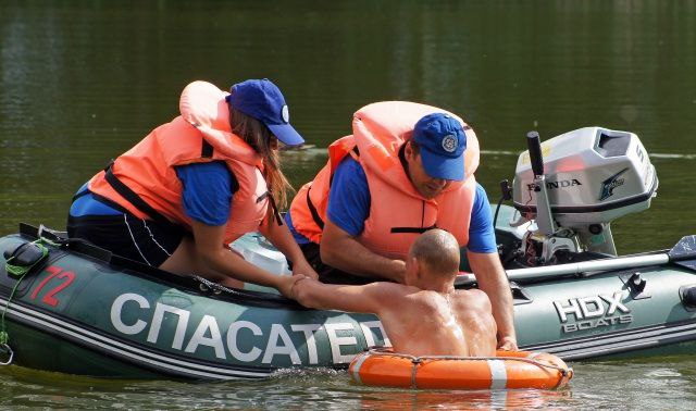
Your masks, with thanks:
[{"label": "bent left-hand forearm of the man in cap and life vest", "polygon": [[387,259],[368,250],[330,220],[324,224],[320,252],[324,263],[347,273],[403,282],[406,262]]}]

